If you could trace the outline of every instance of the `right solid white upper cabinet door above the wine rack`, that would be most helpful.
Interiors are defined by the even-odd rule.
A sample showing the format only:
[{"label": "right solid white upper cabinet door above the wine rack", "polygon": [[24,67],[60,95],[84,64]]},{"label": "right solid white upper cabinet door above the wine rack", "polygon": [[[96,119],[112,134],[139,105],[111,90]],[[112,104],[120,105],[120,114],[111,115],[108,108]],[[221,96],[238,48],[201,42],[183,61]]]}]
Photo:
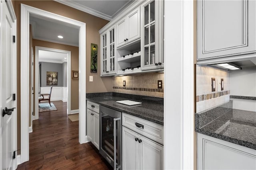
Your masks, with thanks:
[{"label": "right solid white upper cabinet door above the wine rack", "polygon": [[128,14],[127,22],[127,38],[128,42],[130,42],[140,37],[140,8]]}]

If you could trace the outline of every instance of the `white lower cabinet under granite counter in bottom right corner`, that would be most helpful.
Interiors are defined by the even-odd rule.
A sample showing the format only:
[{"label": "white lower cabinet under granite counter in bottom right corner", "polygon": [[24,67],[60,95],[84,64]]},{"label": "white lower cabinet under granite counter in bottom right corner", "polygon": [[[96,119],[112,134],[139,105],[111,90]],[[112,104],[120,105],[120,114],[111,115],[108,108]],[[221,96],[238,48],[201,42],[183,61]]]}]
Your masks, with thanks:
[{"label": "white lower cabinet under granite counter in bottom right corner", "polygon": [[198,170],[255,170],[256,150],[197,133]]}]

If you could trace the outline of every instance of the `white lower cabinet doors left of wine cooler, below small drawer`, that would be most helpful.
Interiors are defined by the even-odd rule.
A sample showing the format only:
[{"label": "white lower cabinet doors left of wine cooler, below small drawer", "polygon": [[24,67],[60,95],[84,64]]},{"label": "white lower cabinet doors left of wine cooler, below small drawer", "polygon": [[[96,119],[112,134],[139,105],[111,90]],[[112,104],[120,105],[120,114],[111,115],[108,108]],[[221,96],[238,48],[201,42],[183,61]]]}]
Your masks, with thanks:
[{"label": "white lower cabinet doors left of wine cooler, below small drawer", "polygon": [[99,113],[87,109],[87,137],[99,149]]}]

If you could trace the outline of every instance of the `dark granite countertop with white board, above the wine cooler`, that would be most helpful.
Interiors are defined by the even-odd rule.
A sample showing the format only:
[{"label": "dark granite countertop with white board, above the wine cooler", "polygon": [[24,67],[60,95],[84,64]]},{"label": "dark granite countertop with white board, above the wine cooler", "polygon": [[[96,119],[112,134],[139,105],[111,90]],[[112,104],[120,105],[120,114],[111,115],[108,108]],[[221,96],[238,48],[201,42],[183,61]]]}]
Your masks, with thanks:
[{"label": "dark granite countertop with white board, above the wine cooler", "polygon": [[164,106],[161,104],[153,104],[138,100],[133,100],[137,102],[142,102],[139,106],[126,106],[124,104],[119,104],[116,101],[119,100],[132,100],[128,98],[120,98],[116,96],[100,96],[95,98],[86,98],[86,100],[98,103],[102,106],[115,109],[136,117],[157,123],[159,125],[164,125]]}]

